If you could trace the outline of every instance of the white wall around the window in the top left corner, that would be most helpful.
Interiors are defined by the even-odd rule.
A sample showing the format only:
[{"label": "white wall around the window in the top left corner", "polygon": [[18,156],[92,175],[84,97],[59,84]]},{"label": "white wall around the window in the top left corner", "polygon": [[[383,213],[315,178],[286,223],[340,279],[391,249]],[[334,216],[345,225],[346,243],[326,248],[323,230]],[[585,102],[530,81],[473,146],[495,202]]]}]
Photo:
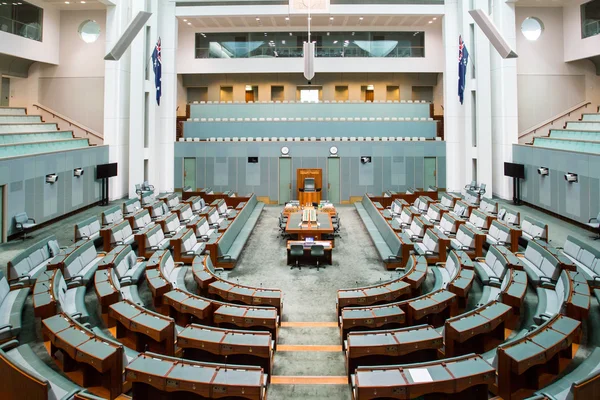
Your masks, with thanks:
[{"label": "white wall around the window in the top left corner", "polygon": [[60,11],[49,3],[41,0],[31,0],[29,3],[44,9],[42,41],[26,39],[0,31],[0,53],[27,60],[58,64],[60,48]]}]

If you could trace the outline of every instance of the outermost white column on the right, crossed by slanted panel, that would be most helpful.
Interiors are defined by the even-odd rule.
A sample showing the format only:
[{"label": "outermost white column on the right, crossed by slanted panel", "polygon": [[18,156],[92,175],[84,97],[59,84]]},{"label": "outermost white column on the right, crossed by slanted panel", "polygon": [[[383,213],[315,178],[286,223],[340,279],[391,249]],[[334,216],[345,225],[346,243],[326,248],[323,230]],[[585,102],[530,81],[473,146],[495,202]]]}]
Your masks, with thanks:
[{"label": "outermost white column on the right, crossed by slanted panel", "polygon": [[[516,48],[515,3],[494,1],[492,19],[511,48]],[[491,54],[492,140],[494,195],[512,198],[512,179],[504,176],[504,162],[512,161],[512,145],[519,141],[517,60]]]}]

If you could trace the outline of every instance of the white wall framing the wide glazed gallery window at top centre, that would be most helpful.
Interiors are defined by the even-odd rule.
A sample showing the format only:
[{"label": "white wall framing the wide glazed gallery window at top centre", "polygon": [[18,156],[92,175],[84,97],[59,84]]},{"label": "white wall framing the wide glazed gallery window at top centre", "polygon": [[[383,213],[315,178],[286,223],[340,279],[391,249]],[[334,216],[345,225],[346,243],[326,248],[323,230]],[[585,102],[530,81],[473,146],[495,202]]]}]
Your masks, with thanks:
[{"label": "white wall framing the wide glazed gallery window at top centre", "polygon": [[[331,30],[329,27],[314,27],[314,31]],[[358,29],[357,29],[358,30]],[[361,29],[374,31],[374,29]],[[385,29],[379,29],[384,30]],[[425,57],[422,58],[320,58],[315,59],[315,71],[319,72],[443,72],[444,47],[441,23],[438,21],[420,27],[389,27],[393,31],[424,31]],[[245,31],[251,32],[252,28]],[[267,30],[269,31],[269,30]],[[272,31],[272,29],[271,29]],[[333,31],[333,30],[332,30]],[[179,22],[177,48],[177,73],[273,73],[298,72],[304,70],[302,58],[242,58],[242,59],[196,59],[195,34],[198,28]],[[262,32],[262,31],[261,31]]]}]

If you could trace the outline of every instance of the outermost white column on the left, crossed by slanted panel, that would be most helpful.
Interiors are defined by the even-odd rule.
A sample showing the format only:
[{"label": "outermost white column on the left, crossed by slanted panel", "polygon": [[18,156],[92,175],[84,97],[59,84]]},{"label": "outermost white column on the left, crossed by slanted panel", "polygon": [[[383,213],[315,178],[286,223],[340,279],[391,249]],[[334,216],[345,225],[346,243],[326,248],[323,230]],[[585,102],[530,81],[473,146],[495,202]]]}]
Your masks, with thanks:
[{"label": "outermost white column on the left, crossed by slanted panel", "polygon": [[[129,1],[119,1],[106,11],[106,51],[127,28]],[[109,160],[119,164],[118,176],[109,179],[110,199],[129,193],[129,79],[130,52],[119,61],[105,61],[104,78],[104,143],[110,145]]]}]

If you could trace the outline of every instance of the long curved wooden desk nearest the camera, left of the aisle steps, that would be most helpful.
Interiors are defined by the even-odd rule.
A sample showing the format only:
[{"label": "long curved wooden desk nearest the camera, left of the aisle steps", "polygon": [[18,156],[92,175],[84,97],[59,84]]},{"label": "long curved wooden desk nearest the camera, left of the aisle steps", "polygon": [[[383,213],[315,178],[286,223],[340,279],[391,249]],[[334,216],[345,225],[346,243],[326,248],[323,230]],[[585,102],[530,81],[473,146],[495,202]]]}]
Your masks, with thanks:
[{"label": "long curved wooden desk nearest the camera, left of the aisle steps", "polygon": [[[125,368],[134,399],[171,398],[193,394],[205,399],[266,399],[266,378],[260,367],[222,365],[143,353]],[[169,396],[171,394],[171,396]]]}]

